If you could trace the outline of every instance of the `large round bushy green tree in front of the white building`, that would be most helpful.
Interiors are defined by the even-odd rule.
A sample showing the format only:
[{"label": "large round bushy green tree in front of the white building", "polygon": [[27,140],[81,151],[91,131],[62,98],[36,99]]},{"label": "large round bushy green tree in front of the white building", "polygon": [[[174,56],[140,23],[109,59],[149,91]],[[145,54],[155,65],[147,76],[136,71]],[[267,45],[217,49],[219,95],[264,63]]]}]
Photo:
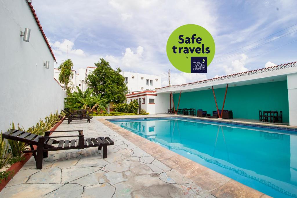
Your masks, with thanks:
[{"label": "large round bushy green tree in front of the white building", "polygon": [[94,93],[101,94],[108,103],[126,101],[128,88],[124,83],[124,77],[120,74],[121,69],[114,70],[104,58],[100,58],[95,66],[97,68],[86,77],[88,87],[94,88]]}]

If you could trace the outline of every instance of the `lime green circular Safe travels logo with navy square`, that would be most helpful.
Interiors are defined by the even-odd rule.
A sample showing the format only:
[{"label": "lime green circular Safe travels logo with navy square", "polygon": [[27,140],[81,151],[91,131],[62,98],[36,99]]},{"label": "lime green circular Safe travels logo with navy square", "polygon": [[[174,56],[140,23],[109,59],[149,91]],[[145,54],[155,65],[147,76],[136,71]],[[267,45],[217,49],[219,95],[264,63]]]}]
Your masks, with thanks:
[{"label": "lime green circular Safe travels logo with navy square", "polygon": [[187,73],[207,73],[207,66],[214,58],[214,39],[201,26],[180,26],[170,34],[166,52],[176,69]]}]

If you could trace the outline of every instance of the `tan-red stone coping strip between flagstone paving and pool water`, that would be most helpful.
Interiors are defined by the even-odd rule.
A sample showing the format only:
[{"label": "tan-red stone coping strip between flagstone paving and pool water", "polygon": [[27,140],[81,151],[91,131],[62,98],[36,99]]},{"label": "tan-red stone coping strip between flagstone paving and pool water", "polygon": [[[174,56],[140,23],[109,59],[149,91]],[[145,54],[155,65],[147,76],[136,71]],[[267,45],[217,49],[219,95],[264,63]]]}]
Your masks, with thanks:
[{"label": "tan-red stone coping strip between flagstone paving and pool water", "polygon": [[108,118],[98,118],[97,120],[141,148],[146,153],[161,161],[163,164],[176,170],[189,180],[192,180],[196,185],[206,191],[209,191],[209,193],[215,197],[225,197],[226,193],[233,197],[236,195],[242,195],[243,192],[246,194],[246,197],[270,197],[256,189],[246,186],[236,180],[211,170],[208,167],[198,164],[195,161],[187,159],[184,156],[157,145],[156,143],[130,132],[127,129],[121,128],[120,126],[111,123]]}]

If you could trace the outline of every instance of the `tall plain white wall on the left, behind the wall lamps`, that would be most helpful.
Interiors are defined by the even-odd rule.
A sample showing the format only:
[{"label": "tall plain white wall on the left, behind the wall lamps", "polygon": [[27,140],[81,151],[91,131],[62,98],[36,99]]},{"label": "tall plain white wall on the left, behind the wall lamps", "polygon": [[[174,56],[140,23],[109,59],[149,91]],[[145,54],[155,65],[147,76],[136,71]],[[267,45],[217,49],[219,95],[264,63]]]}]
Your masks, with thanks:
[{"label": "tall plain white wall on the left, behind the wall lamps", "polygon": [[[64,108],[65,92],[53,79],[54,60],[27,1],[0,1],[0,129],[25,129]],[[29,42],[20,31],[31,29]],[[43,63],[50,61],[49,69]]]}]

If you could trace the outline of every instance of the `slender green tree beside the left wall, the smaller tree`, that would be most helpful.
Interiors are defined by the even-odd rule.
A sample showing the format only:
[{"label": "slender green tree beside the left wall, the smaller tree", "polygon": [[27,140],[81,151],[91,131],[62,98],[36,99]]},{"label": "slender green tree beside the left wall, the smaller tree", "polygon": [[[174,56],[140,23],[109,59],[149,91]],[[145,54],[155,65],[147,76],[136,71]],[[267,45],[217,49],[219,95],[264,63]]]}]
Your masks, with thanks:
[{"label": "slender green tree beside the left wall, the smaller tree", "polygon": [[66,89],[66,94],[70,94],[73,88],[71,80],[73,78],[73,63],[70,59],[62,62],[61,65],[58,67],[60,74],[59,74],[59,81],[60,83],[64,84]]}]

